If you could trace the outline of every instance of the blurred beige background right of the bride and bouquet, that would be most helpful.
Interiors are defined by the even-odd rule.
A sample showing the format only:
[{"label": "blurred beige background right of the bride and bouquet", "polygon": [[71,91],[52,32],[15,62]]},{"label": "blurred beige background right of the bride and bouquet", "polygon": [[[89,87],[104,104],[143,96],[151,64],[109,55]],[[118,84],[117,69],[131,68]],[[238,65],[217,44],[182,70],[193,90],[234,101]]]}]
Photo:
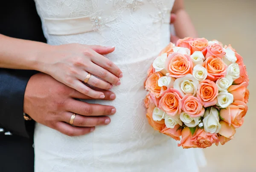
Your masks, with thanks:
[{"label": "blurred beige background right of the bride and bouquet", "polygon": [[184,1],[199,37],[232,44],[244,58],[250,78],[244,125],[234,140],[204,150],[208,164],[201,171],[256,172],[256,0]]}]

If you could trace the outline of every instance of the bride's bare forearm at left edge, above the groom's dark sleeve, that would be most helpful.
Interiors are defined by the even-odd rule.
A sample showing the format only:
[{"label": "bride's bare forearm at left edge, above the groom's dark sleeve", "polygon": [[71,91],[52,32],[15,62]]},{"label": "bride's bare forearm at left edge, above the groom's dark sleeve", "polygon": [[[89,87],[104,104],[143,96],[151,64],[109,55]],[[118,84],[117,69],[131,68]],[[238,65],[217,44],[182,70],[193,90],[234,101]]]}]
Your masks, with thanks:
[{"label": "bride's bare forearm at left edge, above the groom's dark sleeve", "polygon": [[38,54],[50,46],[46,43],[21,40],[0,34],[0,68],[40,71]]}]

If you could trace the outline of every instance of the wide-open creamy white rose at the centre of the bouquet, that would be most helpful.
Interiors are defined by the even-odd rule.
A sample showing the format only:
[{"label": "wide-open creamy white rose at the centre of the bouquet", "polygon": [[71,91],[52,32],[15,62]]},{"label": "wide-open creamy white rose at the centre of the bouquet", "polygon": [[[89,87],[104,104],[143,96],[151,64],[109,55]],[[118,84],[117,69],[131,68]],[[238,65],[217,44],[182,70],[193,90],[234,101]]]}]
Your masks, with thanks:
[{"label": "wide-open creamy white rose at the centre of the bouquet", "polygon": [[177,78],[174,81],[173,88],[180,91],[181,95],[192,94],[196,95],[199,82],[193,77],[193,75],[188,74],[184,77]]}]

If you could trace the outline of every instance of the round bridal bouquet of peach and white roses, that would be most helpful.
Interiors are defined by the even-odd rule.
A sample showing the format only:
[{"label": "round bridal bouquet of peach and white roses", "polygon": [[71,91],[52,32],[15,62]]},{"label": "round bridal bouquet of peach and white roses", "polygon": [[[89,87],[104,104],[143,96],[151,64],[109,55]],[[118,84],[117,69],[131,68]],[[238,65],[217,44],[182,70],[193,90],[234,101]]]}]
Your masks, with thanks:
[{"label": "round bridal bouquet of peach and white roses", "polygon": [[148,70],[147,118],[183,148],[234,138],[247,113],[249,78],[243,58],[217,40],[186,37],[170,43]]}]

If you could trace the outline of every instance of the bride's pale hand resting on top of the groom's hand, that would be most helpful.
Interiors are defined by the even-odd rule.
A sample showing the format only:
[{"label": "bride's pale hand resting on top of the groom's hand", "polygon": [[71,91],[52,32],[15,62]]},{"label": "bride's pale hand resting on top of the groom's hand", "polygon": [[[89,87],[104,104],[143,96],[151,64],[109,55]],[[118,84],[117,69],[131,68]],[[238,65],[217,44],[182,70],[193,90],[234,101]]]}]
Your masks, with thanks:
[{"label": "bride's pale hand resting on top of the groom's hand", "polygon": [[[83,81],[88,73],[92,74],[88,84],[100,89],[111,89],[120,85],[121,70],[103,54],[114,51],[114,47],[88,46],[82,44],[65,44],[51,46],[50,50],[40,52],[38,64],[40,71],[51,75],[56,80],[76,89],[92,98],[104,98],[102,92],[86,86]],[[97,77],[102,78],[99,79]]]}]

